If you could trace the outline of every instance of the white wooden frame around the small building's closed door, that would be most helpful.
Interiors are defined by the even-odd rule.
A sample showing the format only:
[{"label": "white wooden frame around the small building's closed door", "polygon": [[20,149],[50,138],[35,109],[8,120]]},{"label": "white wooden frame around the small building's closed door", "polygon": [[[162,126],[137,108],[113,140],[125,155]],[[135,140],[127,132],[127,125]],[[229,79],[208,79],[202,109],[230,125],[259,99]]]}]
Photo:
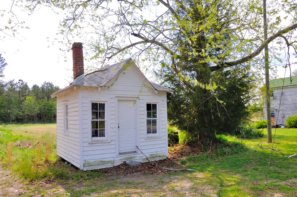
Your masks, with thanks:
[{"label": "white wooden frame around the small building's closed door", "polygon": [[[137,97],[135,96],[116,96],[116,157],[119,156],[126,156],[126,155],[133,155],[133,154],[138,154],[139,150],[136,148],[136,146],[139,146],[139,116],[138,113],[138,102],[137,102]],[[130,153],[130,154],[124,154],[124,155],[119,155],[119,101],[132,101],[135,102],[135,152],[136,153]]]}]

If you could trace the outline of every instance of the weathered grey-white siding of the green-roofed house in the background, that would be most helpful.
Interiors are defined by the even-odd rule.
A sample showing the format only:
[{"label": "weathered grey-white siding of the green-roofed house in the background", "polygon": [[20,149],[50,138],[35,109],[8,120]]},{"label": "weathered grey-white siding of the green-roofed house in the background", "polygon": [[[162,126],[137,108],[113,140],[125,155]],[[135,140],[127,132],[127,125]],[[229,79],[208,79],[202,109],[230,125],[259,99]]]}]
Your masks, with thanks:
[{"label": "weathered grey-white siding of the green-roofed house in the background", "polygon": [[[274,96],[271,97],[271,109],[277,109],[275,110],[276,123],[278,125],[285,125],[286,119],[290,115],[297,114],[297,86],[284,87],[283,91],[282,88],[275,88],[272,90]],[[281,93],[282,100],[279,106]],[[263,119],[266,120],[266,117],[266,103],[264,102]]]}]

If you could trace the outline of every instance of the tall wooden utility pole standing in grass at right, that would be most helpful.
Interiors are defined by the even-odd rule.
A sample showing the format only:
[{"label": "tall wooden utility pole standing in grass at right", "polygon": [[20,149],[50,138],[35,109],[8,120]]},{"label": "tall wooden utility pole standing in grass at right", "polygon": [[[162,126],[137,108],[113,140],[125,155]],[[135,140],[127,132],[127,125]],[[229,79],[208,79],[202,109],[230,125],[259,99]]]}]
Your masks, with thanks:
[{"label": "tall wooden utility pole standing in grass at right", "polygon": [[[267,17],[266,17],[266,0],[263,0],[263,22],[264,22],[264,40],[267,40]],[[268,45],[265,47],[265,87],[266,87],[266,114],[267,114],[267,142],[272,142],[271,132],[271,112],[270,112],[270,87],[269,87],[269,59]]]}]

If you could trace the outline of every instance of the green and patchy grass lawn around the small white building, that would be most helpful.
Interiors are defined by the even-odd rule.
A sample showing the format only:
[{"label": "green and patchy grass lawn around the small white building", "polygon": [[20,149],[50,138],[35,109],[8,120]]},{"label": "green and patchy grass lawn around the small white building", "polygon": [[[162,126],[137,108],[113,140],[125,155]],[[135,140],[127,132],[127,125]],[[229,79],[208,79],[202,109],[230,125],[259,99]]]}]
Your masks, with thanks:
[{"label": "green and patchy grass lawn around the small white building", "polygon": [[[49,133],[44,134],[47,130]],[[257,144],[263,141],[263,146],[269,147],[267,135],[243,139],[244,149],[241,139],[228,136],[230,146],[215,146],[217,150],[212,154],[206,151],[179,161],[198,171],[154,175],[143,172],[120,177],[98,171],[82,172],[56,161],[55,143],[51,144],[50,162],[43,163],[46,144],[56,138],[54,132],[54,124],[0,125],[0,177],[4,177],[0,179],[1,196],[14,196],[10,192],[14,189],[19,196],[297,196],[297,157],[288,159],[272,152],[265,180],[270,151]],[[22,140],[42,141],[39,166],[32,164],[38,152],[36,147],[16,145],[12,147],[13,165],[8,165],[7,144]],[[232,145],[230,141],[236,143]],[[274,142],[277,150],[291,155],[297,144],[297,129],[277,129]],[[11,179],[5,179],[10,175]]]}]

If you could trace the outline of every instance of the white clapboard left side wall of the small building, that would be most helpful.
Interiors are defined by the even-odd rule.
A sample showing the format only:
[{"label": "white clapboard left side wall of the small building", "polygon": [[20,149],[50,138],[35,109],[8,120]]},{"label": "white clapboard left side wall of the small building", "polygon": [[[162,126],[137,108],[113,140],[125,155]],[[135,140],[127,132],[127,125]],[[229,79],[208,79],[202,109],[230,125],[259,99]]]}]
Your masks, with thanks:
[{"label": "white clapboard left side wall of the small building", "polygon": [[[65,104],[68,104],[68,132],[64,132]],[[78,106],[78,89],[57,96],[57,155],[80,168]]]}]

